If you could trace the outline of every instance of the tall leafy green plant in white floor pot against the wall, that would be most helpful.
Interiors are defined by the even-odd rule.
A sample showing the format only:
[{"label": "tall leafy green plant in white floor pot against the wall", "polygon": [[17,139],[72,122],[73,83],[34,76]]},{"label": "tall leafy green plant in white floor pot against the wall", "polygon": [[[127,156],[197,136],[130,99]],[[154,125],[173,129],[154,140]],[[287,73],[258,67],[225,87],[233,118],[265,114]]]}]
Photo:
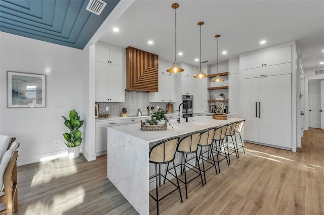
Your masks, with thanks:
[{"label": "tall leafy green plant in white floor pot against the wall", "polygon": [[80,121],[80,117],[77,116],[77,112],[74,109],[70,111],[69,118],[70,120],[63,117],[64,125],[70,129],[70,133],[64,133],[63,137],[67,141],[65,143],[67,147],[76,147],[82,142],[82,132],[78,129],[83,125],[84,120]]}]

